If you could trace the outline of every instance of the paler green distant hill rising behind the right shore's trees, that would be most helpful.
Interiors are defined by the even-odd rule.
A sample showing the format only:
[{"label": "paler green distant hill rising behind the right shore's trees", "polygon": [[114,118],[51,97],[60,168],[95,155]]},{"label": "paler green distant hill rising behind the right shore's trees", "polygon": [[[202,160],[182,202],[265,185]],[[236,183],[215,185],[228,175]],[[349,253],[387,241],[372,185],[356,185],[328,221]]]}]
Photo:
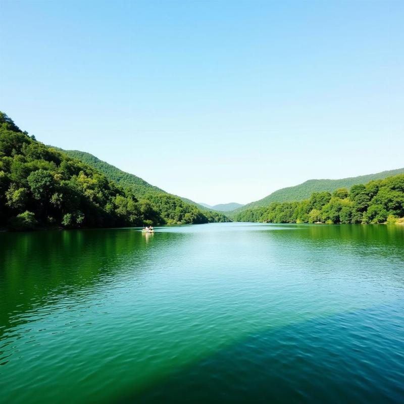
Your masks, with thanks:
[{"label": "paler green distant hill rising behind the right shore's trees", "polygon": [[234,215],[247,209],[265,207],[268,206],[271,202],[292,202],[296,200],[307,199],[310,198],[310,195],[313,192],[333,192],[338,188],[350,189],[352,185],[365,184],[372,180],[384,179],[402,173],[404,173],[404,168],[382,171],[376,174],[361,175],[359,177],[342,178],[337,180],[308,180],[299,185],[278,189],[265,198],[244,205],[242,208],[239,208],[236,211],[232,212],[232,214]]}]

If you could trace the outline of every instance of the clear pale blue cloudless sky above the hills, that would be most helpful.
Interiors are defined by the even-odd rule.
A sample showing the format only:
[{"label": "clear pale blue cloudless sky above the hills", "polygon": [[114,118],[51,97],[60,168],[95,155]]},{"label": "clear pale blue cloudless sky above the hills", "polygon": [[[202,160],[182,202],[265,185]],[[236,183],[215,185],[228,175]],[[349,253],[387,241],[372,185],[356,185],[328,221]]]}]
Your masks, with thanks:
[{"label": "clear pale blue cloudless sky above the hills", "polygon": [[1,0],[0,110],[169,192],[404,167],[404,2]]}]

